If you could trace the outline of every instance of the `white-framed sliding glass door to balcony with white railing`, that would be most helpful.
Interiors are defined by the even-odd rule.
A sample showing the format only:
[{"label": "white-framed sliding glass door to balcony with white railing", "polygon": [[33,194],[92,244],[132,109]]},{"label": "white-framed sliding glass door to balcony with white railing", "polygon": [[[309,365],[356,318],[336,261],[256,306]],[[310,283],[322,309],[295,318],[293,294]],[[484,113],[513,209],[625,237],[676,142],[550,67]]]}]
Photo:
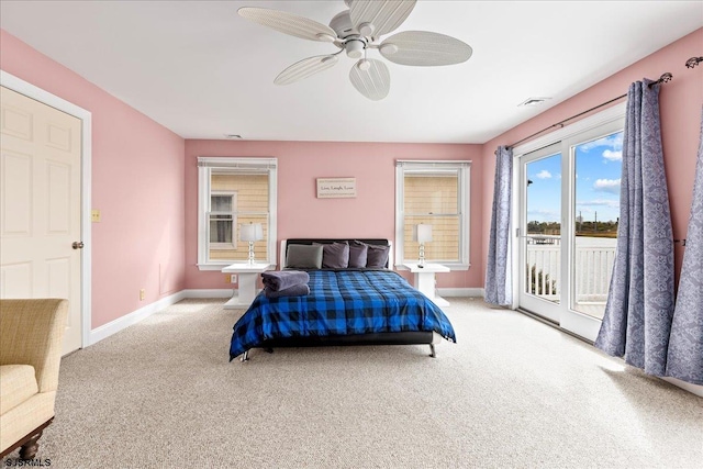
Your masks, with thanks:
[{"label": "white-framed sliding glass door to balcony with white railing", "polygon": [[588,339],[615,257],[622,121],[520,156],[518,306]]}]

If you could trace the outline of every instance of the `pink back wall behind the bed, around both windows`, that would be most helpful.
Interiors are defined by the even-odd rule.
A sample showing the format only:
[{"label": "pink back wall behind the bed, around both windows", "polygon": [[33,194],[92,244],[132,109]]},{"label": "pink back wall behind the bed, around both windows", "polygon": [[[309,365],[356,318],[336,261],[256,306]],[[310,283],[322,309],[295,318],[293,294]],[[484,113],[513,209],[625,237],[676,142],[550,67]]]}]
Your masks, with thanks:
[{"label": "pink back wall behind the bed, around both windows", "polygon": [[[439,287],[483,286],[480,145],[186,141],[186,283],[226,288],[220,272],[198,270],[198,156],[278,158],[278,238],[395,237],[395,160],[470,159],[471,268],[437,276]],[[317,199],[315,178],[355,177],[356,199]]]}]

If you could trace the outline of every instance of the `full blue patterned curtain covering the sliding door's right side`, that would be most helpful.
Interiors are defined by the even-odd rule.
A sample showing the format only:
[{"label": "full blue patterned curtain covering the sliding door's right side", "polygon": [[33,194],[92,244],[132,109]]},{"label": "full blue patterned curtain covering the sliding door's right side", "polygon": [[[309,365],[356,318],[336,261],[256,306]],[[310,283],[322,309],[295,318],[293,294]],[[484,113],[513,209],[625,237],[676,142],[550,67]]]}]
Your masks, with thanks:
[{"label": "full blue patterned curtain covering the sliding door's right side", "polygon": [[659,85],[631,85],[613,277],[595,346],[665,376],[673,315],[673,233],[663,171]]}]

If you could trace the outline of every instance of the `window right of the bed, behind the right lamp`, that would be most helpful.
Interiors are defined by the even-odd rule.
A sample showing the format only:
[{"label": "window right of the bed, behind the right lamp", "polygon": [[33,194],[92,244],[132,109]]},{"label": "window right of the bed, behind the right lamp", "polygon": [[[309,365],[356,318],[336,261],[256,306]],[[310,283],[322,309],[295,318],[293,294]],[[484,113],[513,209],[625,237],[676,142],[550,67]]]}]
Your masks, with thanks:
[{"label": "window right of the bed, behind the right lamp", "polygon": [[469,268],[470,161],[402,161],[395,164],[395,258],[416,261],[413,228],[432,225],[425,259],[456,270]]}]

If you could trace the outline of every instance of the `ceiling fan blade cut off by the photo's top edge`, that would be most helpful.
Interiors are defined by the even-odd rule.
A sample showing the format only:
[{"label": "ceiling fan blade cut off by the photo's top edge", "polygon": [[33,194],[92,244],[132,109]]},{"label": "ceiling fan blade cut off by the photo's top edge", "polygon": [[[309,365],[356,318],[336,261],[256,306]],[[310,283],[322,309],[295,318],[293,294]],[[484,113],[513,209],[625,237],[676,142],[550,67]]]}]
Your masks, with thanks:
[{"label": "ceiling fan blade cut off by the photo's top edge", "polygon": [[[379,37],[394,31],[415,8],[417,0],[354,0],[352,24],[364,36]],[[365,30],[365,24],[370,30]]]}]

